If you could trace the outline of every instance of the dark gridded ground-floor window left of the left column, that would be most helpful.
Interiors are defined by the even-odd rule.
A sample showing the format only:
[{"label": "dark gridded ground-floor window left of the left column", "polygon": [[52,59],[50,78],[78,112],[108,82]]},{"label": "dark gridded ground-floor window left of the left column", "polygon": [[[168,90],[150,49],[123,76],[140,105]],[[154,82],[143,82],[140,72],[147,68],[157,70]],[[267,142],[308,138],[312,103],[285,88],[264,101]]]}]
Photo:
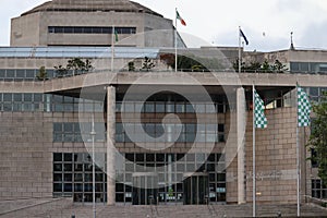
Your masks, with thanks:
[{"label": "dark gridded ground-floor window left of the left column", "polygon": [[[106,156],[96,154],[96,202],[106,201]],[[74,202],[93,201],[92,157],[89,154],[53,153],[53,196],[73,196]]]}]

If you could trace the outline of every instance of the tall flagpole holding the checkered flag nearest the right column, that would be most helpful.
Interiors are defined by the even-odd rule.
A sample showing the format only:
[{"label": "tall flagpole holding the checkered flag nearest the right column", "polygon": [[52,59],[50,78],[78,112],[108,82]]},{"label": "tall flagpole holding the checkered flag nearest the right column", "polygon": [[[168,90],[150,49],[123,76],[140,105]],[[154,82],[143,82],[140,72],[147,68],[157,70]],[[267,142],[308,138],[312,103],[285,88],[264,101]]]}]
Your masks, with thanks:
[{"label": "tall flagpole holding the checkered flag nearest the right column", "polygon": [[252,216],[255,217],[256,214],[256,172],[255,172],[255,95],[254,95],[254,83],[252,85],[252,116],[253,116],[253,124],[252,124]]}]

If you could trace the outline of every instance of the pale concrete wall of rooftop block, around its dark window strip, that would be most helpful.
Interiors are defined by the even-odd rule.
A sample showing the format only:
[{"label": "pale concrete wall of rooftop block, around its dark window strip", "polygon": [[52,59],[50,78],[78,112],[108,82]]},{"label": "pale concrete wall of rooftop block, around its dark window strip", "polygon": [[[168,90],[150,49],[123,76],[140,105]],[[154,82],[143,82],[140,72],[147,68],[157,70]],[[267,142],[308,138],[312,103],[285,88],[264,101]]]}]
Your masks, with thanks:
[{"label": "pale concrete wall of rooftop block, around its dark window strip", "polygon": [[[51,34],[48,26],[126,26],[135,34],[119,34],[118,45],[172,47],[170,34],[147,35],[145,31],[172,29],[172,21],[147,13],[129,12],[36,12],[12,20],[11,46],[110,46],[110,34]],[[126,40],[132,36],[132,39]]]}]

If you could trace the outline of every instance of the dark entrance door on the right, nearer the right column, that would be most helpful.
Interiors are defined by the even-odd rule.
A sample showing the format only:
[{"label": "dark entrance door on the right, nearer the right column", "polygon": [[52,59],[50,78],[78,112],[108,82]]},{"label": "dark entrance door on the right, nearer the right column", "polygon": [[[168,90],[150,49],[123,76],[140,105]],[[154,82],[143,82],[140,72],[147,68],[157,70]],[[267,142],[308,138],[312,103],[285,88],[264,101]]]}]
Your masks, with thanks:
[{"label": "dark entrance door on the right, nearer the right column", "polygon": [[196,172],[190,175],[185,173],[184,178],[184,204],[206,204],[209,194],[208,174]]}]

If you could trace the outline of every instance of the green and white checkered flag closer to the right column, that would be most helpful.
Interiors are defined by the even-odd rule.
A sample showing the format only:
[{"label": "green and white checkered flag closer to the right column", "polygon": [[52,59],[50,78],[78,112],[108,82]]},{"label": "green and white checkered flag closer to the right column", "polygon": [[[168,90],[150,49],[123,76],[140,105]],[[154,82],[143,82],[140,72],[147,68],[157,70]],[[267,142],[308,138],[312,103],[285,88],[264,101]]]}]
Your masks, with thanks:
[{"label": "green and white checkered flag closer to the right column", "polygon": [[267,118],[265,116],[265,106],[261,96],[254,90],[254,118],[255,128],[267,128]]}]

